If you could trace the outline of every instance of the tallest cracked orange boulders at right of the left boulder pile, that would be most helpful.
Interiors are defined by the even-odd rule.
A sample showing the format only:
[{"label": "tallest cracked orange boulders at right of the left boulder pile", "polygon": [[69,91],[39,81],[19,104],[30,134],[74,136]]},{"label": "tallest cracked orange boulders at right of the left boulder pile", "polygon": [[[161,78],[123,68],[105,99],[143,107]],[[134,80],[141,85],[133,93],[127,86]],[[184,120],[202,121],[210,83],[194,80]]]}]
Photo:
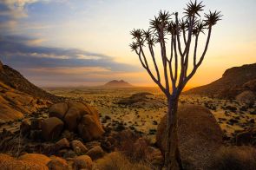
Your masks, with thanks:
[{"label": "tallest cracked orange boulders at right of the left boulder pile", "polygon": [[88,104],[75,101],[56,103],[49,108],[49,117],[61,119],[65,128],[78,132],[85,141],[99,139],[104,133],[98,112]]}]

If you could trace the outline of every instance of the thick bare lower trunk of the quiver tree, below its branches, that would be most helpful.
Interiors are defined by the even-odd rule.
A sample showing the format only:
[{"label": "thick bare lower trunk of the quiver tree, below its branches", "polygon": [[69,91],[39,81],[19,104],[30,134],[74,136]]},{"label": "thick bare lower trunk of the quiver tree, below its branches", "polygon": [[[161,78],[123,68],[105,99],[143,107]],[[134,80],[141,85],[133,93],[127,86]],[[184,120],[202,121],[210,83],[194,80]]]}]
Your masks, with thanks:
[{"label": "thick bare lower trunk of the quiver tree, below its branches", "polygon": [[165,163],[166,170],[181,170],[181,155],[178,147],[178,132],[177,132],[177,108],[178,97],[168,100],[167,111],[167,131],[166,131],[166,149]]}]

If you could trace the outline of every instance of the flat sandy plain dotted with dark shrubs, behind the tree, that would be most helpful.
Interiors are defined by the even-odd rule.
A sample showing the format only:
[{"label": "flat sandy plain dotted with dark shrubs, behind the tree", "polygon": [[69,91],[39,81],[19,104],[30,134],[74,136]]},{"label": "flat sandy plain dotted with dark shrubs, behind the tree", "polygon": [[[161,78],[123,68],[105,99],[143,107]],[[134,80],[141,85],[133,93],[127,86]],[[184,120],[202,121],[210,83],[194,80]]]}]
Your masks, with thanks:
[{"label": "flat sandy plain dotted with dark shrubs, behind the tree", "polygon": [[[48,88],[50,93],[84,101],[95,106],[105,126],[121,124],[148,135],[154,141],[157,124],[167,112],[165,96],[158,88]],[[130,106],[117,104],[135,93],[149,92],[152,102],[139,102]],[[157,102],[155,104],[155,102]],[[209,108],[229,141],[236,133],[255,126],[254,101],[226,101],[197,95],[181,95],[180,104],[189,103]],[[196,120],[195,120],[196,121]]]}]

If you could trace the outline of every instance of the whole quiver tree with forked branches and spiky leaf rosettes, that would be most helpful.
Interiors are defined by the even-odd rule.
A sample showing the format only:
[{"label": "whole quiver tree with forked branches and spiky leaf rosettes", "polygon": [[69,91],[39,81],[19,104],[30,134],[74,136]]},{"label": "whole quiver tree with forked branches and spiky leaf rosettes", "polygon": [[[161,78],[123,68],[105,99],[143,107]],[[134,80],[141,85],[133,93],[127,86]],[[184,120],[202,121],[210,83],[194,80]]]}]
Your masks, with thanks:
[{"label": "whole quiver tree with forked branches and spiky leaf rosettes", "polygon": [[[160,11],[159,15],[154,16],[150,21],[148,30],[131,31],[134,39],[130,44],[131,49],[139,56],[143,68],[167,97],[167,142],[164,165],[166,169],[182,169],[177,136],[179,97],[187,82],[203,62],[213,25],[220,21],[221,15],[217,11],[209,11],[202,18],[200,12],[204,5],[201,3],[196,1],[188,3],[182,18],[179,18],[178,12]],[[201,35],[206,36],[206,41],[199,43]],[[156,61],[155,44],[160,46],[161,66]],[[199,45],[203,45],[201,54],[198,52]],[[167,48],[169,48],[169,55],[167,55]]]}]

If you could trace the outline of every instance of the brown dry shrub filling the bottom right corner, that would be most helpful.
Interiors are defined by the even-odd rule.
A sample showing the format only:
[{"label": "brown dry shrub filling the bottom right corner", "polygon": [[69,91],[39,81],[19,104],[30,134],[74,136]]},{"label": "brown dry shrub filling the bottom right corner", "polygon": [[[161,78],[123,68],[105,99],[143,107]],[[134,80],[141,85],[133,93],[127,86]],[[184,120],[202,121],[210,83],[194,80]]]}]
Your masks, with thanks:
[{"label": "brown dry shrub filling the bottom right corner", "polygon": [[220,147],[211,168],[214,170],[255,170],[256,149],[248,146]]}]

